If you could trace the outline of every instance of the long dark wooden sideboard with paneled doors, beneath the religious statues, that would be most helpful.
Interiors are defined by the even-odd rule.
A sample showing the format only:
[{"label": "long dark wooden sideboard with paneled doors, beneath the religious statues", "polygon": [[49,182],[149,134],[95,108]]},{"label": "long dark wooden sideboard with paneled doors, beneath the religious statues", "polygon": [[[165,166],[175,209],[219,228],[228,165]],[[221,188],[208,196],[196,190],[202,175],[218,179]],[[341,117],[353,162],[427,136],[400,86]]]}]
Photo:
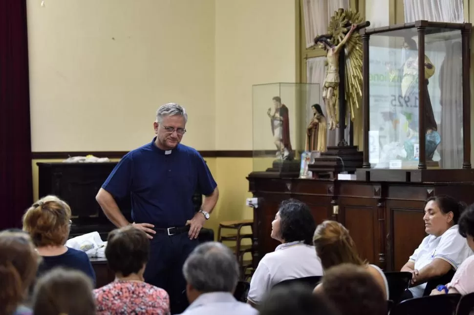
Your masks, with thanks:
[{"label": "long dark wooden sideboard with paneled doors, beneath the religious statues", "polygon": [[329,179],[282,178],[253,172],[249,191],[259,198],[254,209],[254,264],[275,250],[271,222],[279,203],[296,198],[308,204],[316,224],[325,219],[341,222],[349,230],[360,255],[386,271],[398,271],[425,234],[425,200],[450,195],[474,202],[474,182],[366,182]]}]

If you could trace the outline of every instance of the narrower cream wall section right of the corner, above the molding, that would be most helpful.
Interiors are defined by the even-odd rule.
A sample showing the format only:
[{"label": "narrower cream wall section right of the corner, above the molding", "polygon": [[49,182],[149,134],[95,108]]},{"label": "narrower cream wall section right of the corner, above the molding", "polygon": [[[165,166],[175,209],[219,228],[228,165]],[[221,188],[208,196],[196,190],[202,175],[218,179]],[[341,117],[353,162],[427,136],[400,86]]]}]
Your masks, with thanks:
[{"label": "narrower cream wall section right of the corner, above the molding", "polygon": [[252,150],[252,85],[295,82],[295,18],[294,0],[215,1],[217,150]]}]

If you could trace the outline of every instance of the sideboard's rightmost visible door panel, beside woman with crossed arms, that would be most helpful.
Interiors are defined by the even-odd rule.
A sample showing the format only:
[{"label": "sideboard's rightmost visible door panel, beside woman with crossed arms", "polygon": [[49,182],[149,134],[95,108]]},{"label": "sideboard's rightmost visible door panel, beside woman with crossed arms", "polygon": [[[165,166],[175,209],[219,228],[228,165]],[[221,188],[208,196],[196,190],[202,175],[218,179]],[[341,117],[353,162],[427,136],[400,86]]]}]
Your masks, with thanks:
[{"label": "sideboard's rightmost visible door panel, beside woman with crossed arms", "polygon": [[424,206],[424,201],[387,201],[387,217],[391,218],[391,222],[388,221],[388,253],[393,271],[400,271],[426,236]]}]

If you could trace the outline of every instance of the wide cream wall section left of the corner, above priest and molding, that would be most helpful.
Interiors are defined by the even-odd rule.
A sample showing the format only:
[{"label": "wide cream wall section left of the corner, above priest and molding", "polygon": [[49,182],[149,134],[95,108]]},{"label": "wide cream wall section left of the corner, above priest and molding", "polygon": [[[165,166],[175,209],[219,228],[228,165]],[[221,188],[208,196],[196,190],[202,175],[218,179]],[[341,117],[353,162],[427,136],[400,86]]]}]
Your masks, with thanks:
[{"label": "wide cream wall section left of the corner, above priest and molding", "polygon": [[[214,0],[27,0],[32,150],[126,151],[157,107],[189,112],[214,150]],[[206,122],[206,123],[204,123]]]}]

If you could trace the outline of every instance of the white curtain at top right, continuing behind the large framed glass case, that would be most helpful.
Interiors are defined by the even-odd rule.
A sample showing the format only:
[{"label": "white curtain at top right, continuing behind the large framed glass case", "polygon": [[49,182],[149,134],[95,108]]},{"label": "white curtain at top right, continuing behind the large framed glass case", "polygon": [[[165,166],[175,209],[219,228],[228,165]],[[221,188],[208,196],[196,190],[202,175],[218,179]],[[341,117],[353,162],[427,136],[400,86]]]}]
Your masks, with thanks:
[{"label": "white curtain at top right, continuing behind the large framed glass case", "polygon": [[[405,22],[428,20],[464,22],[462,0],[404,0]],[[435,35],[434,35],[435,36]],[[446,37],[426,36],[425,51],[435,66],[428,91],[438,125],[438,146],[442,168],[462,167],[462,78],[461,34]],[[436,154],[435,154],[436,156]]]}]

